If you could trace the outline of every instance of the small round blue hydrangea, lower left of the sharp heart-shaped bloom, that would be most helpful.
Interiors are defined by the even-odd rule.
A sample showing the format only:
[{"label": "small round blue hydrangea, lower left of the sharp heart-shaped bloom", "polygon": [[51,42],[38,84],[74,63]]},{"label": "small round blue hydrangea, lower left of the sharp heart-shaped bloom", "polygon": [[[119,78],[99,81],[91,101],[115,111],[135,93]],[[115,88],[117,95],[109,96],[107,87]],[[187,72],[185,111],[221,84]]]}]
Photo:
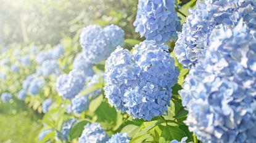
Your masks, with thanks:
[{"label": "small round blue hydrangea, lower left of the sharp heart-shaped bloom", "polygon": [[75,98],[72,99],[72,112],[76,114],[81,114],[84,110],[88,109],[89,107],[89,99],[88,96],[80,96],[77,95]]}]

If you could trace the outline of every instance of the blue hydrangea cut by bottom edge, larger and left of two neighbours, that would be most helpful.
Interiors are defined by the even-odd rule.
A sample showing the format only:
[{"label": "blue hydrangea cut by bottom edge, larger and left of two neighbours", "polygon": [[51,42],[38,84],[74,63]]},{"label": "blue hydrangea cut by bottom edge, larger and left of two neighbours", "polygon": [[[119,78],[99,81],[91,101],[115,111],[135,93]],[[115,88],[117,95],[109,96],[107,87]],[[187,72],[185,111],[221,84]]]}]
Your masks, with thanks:
[{"label": "blue hydrangea cut by bottom edge, larger and left of two neighbours", "polygon": [[84,126],[83,133],[78,138],[77,143],[105,143],[109,136],[98,123],[87,124]]}]

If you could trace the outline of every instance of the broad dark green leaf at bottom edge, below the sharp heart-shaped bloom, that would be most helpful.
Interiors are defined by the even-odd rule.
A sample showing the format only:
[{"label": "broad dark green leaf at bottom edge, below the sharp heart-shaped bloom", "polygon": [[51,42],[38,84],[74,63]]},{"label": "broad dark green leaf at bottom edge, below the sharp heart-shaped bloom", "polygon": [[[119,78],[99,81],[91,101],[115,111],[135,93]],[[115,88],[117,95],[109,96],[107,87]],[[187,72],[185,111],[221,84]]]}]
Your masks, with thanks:
[{"label": "broad dark green leaf at bottom edge, below the sharp heart-shaped bloom", "polygon": [[177,126],[165,126],[163,129],[163,132],[160,136],[159,143],[170,143],[173,139],[177,139],[178,141],[181,141],[181,139],[187,136],[186,133],[178,128]]}]

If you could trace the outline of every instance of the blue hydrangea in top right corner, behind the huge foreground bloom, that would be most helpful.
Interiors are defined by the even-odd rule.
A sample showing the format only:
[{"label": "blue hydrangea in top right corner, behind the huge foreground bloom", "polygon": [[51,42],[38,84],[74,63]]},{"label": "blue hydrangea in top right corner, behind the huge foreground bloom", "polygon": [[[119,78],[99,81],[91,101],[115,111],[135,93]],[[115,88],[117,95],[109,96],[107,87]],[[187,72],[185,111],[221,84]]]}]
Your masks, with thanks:
[{"label": "blue hydrangea in top right corner, behind the huge foreground bloom", "polygon": [[175,45],[175,55],[184,68],[197,64],[205,56],[212,29],[218,25],[236,25],[243,18],[250,28],[256,29],[256,2],[252,0],[197,1],[194,10],[183,24]]}]

